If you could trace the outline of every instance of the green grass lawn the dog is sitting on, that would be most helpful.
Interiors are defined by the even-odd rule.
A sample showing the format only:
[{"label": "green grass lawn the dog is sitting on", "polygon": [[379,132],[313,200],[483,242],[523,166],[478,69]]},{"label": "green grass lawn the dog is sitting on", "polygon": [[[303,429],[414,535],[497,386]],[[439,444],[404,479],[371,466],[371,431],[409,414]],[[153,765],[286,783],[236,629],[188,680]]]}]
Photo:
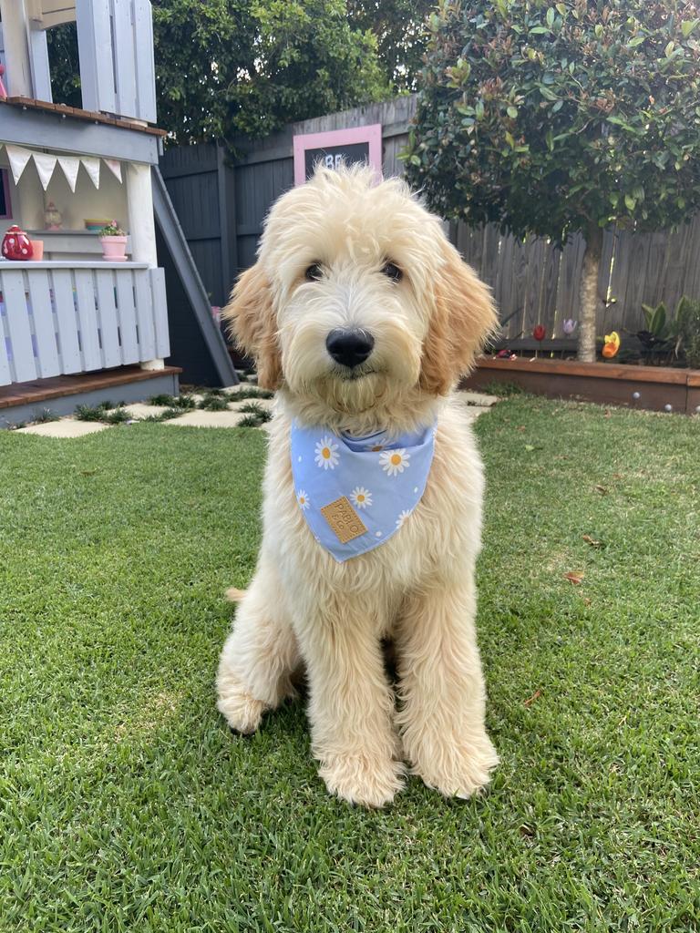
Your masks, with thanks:
[{"label": "green grass lawn the dog is sitting on", "polygon": [[217,715],[264,435],[0,432],[2,933],[700,929],[700,420],[514,397],[476,429],[502,764],[384,812],[329,798],[301,703]]}]

